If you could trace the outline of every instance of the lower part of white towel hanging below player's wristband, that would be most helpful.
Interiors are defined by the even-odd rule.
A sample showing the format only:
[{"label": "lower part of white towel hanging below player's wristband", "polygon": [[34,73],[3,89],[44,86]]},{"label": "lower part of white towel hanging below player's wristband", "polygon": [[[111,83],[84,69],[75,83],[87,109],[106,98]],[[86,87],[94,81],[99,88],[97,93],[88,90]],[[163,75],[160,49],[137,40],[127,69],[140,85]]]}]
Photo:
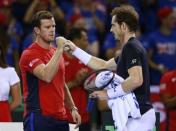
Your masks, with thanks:
[{"label": "lower part of white towel hanging below player's wristband", "polygon": [[140,118],[140,110],[133,93],[108,100],[108,106],[112,110],[114,126],[117,131],[123,131],[128,117]]}]

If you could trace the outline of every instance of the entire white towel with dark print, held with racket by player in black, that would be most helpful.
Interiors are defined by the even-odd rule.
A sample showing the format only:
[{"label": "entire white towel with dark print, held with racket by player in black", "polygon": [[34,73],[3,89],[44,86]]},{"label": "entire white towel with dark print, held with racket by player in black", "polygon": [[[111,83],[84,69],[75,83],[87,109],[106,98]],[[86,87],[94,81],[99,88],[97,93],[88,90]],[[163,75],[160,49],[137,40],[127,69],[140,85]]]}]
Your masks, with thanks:
[{"label": "entire white towel with dark print, held with racket by player in black", "polygon": [[[111,71],[104,71],[97,75],[95,79],[96,87],[101,87],[107,84],[113,76],[113,72]],[[111,81],[111,83],[105,88],[108,89],[115,89],[118,88],[118,85],[124,81],[122,77],[115,74],[115,77]],[[132,118],[140,118],[140,110],[139,105],[136,100],[136,96],[134,93],[128,93],[123,96],[115,97],[113,99],[108,100],[108,106],[112,110],[112,117],[114,120],[114,126],[117,131],[123,131],[126,127],[128,117]]]}]

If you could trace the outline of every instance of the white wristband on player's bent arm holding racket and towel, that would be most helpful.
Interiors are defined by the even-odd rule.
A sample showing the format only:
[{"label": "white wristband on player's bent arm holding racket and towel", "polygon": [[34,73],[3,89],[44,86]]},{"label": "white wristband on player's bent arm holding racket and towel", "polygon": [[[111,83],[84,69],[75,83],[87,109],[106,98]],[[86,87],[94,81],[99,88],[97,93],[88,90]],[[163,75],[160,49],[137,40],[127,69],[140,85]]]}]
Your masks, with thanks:
[{"label": "white wristband on player's bent arm holding racket and towel", "polygon": [[113,86],[113,87],[111,84],[109,84],[108,86],[111,86],[110,88],[107,89],[107,95],[110,99],[114,99],[116,97],[127,94],[125,91],[123,91],[121,84],[118,86]]}]

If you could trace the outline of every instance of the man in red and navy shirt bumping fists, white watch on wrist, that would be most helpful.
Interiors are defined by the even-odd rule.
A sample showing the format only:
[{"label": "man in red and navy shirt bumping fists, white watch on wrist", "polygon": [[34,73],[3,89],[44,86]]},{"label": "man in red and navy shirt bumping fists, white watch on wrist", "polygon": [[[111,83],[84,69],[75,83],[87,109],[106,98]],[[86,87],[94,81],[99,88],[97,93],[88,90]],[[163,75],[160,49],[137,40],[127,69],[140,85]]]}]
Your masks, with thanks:
[{"label": "man in red and navy shirt bumping fists, white watch on wrist", "polygon": [[32,19],[35,40],[20,59],[25,103],[25,131],[69,131],[68,106],[77,126],[80,115],[65,84],[63,48],[55,39],[55,20],[48,11],[37,12]]}]

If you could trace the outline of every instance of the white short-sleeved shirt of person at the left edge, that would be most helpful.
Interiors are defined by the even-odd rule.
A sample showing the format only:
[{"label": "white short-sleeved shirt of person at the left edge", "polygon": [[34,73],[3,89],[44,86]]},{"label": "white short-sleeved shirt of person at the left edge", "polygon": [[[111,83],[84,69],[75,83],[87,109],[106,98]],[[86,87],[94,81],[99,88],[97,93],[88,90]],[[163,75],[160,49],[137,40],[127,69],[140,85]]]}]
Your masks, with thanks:
[{"label": "white short-sleeved shirt of person at the left edge", "polygon": [[0,101],[9,99],[10,88],[18,82],[20,79],[13,67],[0,67]]}]

